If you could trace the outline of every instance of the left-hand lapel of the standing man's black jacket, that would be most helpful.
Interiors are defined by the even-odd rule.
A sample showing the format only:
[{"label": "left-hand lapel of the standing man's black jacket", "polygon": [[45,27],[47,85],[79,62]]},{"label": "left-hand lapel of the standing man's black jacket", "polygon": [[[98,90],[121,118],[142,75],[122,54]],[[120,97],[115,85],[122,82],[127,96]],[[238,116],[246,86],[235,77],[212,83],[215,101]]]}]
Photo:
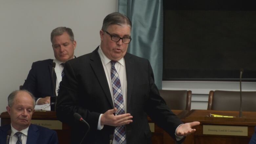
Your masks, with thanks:
[{"label": "left-hand lapel of the standing man's black jacket", "polygon": [[90,65],[91,65],[93,71],[95,72],[95,75],[100,83],[101,88],[103,89],[103,91],[108,99],[108,102],[110,103],[112,108],[114,108],[111,93],[109,90],[108,81],[106,78],[106,74],[105,74],[102,62],[100,60],[99,54],[98,54],[98,48],[92,52],[92,56],[90,59],[91,60]]}]

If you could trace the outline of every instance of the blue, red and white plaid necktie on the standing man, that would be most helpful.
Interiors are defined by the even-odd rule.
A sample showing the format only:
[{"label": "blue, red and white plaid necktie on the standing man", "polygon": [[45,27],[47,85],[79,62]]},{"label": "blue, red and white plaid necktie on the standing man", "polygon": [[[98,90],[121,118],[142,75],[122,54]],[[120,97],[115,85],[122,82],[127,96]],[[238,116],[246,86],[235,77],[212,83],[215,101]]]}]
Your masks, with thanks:
[{"label": "blue, red and white plaid necktie on the standing man", "polygon": [[[114,103],[115,107],[117,108],[116,115],[124,114],[124,103],[123,103],[123,93],[121,89],[121,82],[115,68],[116,61],[111,61],[111,81],[112,81],[112,88],[114,94]],[[125,134],[125,125],[117,126],[115,128],[115,140],[121,144],[126,139]]]}]

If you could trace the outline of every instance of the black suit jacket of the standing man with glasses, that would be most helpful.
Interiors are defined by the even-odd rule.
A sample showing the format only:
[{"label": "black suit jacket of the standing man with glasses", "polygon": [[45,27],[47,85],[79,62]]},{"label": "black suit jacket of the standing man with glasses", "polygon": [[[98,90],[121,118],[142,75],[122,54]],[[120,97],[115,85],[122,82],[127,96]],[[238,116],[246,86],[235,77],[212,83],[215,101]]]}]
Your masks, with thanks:
[{"label": "black suit jacket of the standing man with glasses", "polygon": [[[114,108],[97,50],[66,62],[65,76],[60,83],[56,114],[60,121],[72,125],[72,144],[78,144],[86,131],[86,126],[74,119],[75,112],[81,114],[91,127],[84,143],[109,143],[109,135],[114,134],[115,127],[112,126],[105,125],[102,130],[97,130],[100,113]],[[182,122],[160,97],[149,61],[129,53],[124,59],[127,113],[133,116],[133,122],[126,125],[127,144],[151,143],[147,115],[175,137],[175,130]]]}]

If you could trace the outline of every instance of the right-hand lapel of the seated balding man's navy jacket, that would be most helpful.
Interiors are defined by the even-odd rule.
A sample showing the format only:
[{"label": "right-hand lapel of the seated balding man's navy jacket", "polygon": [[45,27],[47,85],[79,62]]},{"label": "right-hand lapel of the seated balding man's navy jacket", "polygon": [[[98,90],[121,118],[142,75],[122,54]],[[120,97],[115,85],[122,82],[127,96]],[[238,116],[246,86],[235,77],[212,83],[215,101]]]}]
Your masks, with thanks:
[{"label": "right-hand lapel of the seated balding man's navy jacket", "polygon": [[39,136],[38,128],[31,124],[29,126],[27,144],[35,144]]}]

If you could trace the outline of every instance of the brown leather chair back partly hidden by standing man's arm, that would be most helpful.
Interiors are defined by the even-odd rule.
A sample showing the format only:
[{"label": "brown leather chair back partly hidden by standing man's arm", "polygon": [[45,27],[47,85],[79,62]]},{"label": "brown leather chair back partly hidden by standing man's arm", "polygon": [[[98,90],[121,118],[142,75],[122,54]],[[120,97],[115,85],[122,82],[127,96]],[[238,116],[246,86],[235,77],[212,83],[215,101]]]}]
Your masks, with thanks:
[{"label": "brown leather chair back partly hidden by standing man's arm", "polygon": [[159,90],[159,93],[171,110],[190,110],[191,91]]}]

